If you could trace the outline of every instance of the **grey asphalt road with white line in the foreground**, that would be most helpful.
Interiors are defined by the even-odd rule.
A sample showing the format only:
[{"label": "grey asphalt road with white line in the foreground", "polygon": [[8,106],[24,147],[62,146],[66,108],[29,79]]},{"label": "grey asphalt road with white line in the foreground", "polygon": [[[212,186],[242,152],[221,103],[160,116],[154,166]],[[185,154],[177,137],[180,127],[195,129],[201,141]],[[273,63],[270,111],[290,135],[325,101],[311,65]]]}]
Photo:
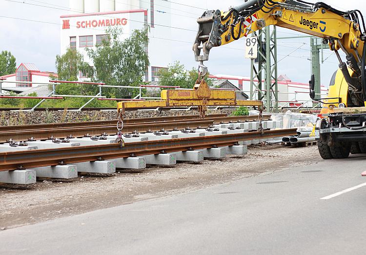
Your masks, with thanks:
[{"label": "grey asphalt road with white line in the foreground", "polygon": [[0,254],[365,254],[365,160],[322,161],[5,230]]}]

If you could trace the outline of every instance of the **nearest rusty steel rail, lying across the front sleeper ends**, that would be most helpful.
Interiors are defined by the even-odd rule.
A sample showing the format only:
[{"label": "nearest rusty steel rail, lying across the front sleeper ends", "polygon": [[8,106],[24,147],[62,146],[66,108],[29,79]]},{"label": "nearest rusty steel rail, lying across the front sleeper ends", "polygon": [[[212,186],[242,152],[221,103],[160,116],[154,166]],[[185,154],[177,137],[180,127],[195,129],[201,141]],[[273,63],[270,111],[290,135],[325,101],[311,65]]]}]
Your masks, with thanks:
[{"label": "nearest rusty steel rail, lying across the front sleeper ends", "polygon": [[295,135],[297,129],[279,129],[241,134],[227,134],[204,137],[191,137],[160,141],[146,141],[125,144],[98,146],[77,146],[57,149],[41,149],[0,153],[0,171],[31,169],[33,167],[94,162],[101,160],[127,158],[203,148],[233,146],[239,141],[264,139],[270,137]]}]

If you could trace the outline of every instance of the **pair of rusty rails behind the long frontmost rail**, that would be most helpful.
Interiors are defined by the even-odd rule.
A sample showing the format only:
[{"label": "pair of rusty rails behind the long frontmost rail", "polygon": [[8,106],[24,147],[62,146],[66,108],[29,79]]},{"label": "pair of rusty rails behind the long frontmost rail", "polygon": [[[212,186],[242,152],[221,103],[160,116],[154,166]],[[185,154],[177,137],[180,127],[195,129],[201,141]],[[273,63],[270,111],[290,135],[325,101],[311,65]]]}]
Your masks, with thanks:
[{"label": "pair of rusty rails behind the long frontmost rail", "polygon": [[[270,115],[264,115],[264,120],[269,120]],[[199,116],[174,116],[142,119],[124,120],[123,133],[132,132],[156,132],[160,130],[172,131],[185,128],[208,128],[214,124],[224,124],[232,122],[249,122],[258,120],[258,116],[223,116],[208,115],[205,119]],[[76,123],[56,123],[44,125],[23,125],[23,126],[3,126],[0,127],[0,143],[6,143],[10,139],[15,141],[28,141],[28,139],[47,140],[50,137],[85,137],[100,136],[102,133],[116,134],[117,120],[76,122]]]}]

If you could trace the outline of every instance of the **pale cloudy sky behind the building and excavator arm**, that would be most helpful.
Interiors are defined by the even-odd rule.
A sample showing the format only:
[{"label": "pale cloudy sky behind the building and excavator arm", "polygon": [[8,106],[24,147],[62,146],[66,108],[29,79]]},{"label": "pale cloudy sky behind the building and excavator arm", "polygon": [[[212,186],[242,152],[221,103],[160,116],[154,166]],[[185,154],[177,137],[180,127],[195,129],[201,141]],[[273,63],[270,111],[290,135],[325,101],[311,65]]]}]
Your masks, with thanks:
[{"label": "pale cloudy sky behind the building and excavator arm", "polygon": [[[312,1],[312,0],[308,0]],[[173,3],[177,2],[177,3]],[[242,0],[172,0],[173,43],[172,58],[187,69],[198,67],[194,61],[192,44],[198,28],[196,19],[204,10],[228,10]],[[366,15],[366,1],[324,0],[340,10],[359,9]],[[181,3],[181,4],[179,4]],[[189,6],[185,6],[185,5]],[[55,56],[60,54],[60,16],[68,14],[69,0],[0,0],[0,51],[10,51],[17,63],[35,63],[41,71],[55,71]],[[155,7],[157,10],[159,7]],[[33,20],[33,21],[31,21]],[[193,30],[193,31],[190,31]],[[288,29],[278,28],[278,37],[304,36]],[[190,43],[192,42],[192,43]],[[286,74],[296,82],[306,83],[310,77],[310,38],[279,39],[278,73]],[[338,68],[338,61],[330,50],[324,50],[325,62],[321,64],[322,85],[327,86],[331,75]],[[211,50],[209,61],[205,62],[212,74],[250,75],[250,60],[244,58],[244,40]]]}]

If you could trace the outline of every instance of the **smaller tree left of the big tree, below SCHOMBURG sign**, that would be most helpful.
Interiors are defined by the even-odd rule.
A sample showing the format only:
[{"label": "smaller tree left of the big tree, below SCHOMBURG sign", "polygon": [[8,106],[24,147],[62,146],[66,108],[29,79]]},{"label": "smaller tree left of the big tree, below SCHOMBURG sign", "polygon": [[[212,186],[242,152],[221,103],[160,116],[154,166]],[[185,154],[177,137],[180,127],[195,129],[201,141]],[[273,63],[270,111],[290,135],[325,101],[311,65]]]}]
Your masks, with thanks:
[{"label": "smaller tree left of the big tree, below SCHOMBURG sign", "polygon": [[77,81],[79,72],[91,75],[92,69],[84,62],[84,57],[76,50],[68,48],[63,55],[56,56],[56,69],[59,79]]}]

